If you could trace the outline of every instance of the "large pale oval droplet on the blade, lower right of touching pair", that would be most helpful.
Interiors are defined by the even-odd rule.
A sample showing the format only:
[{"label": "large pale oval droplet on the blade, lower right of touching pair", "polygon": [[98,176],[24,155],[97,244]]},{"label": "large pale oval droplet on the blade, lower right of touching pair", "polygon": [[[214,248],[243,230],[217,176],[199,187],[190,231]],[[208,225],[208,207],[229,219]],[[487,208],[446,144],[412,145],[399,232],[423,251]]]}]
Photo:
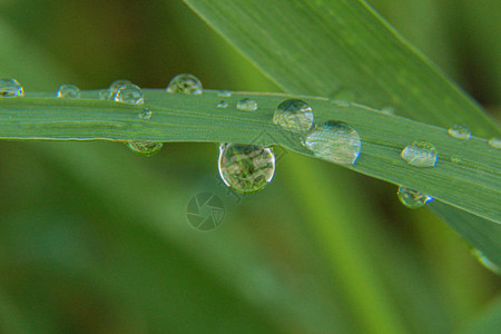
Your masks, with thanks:
[{"label": "large pale oval droplet on the blade, lower right of touching pair", "polygon": [[328,120],[312,130],[304,145],[320,158],[341,165],[353,165],[360,156],[358,132],[343,121]]}]

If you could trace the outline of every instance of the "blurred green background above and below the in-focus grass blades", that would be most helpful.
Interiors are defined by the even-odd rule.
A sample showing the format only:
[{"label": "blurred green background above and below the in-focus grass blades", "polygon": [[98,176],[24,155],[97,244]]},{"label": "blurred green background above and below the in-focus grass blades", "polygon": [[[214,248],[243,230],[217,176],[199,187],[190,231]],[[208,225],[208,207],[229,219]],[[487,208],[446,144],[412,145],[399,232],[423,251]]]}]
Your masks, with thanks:
[{"label": "blurred green background above and below the in-focus grass blades", "polygon": [[[370,3],[499,117],[499,1]],[[0,0],[0,77],[26,90],[180,72],[279,90],[181,1]],[[0,147],[1,333],[450,333],[500,303],[499,276],[444,223],[331,164],[284,153],[265,190],[237,198],[214,144]],[[202,191],[226,207],[209,233],[186,220]]]}]

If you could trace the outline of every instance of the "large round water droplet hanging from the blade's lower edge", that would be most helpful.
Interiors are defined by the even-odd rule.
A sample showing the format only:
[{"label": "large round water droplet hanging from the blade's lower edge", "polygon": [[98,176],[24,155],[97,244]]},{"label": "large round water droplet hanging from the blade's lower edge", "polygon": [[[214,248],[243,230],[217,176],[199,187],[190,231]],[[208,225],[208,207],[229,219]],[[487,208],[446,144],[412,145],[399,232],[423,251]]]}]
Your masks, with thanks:
[{"label": "large round water droplet hanging from the blade's lower edge", "polygon": [[275,160],[268,147],[228,143],[219,146],[220,178],[237,193],[262,190],[273,179]]}]

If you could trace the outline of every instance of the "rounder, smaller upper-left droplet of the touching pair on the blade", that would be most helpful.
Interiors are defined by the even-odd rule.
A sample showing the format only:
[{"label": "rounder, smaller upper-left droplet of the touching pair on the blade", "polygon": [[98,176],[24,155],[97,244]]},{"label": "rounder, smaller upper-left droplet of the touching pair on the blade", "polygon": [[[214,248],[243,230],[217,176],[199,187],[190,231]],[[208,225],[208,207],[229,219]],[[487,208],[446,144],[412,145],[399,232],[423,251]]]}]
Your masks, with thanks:
[{"label": "rounder, smaller upper-left droplet of the touching pair on the blade", "polygon": [[305,132],[313,126],[313,111],[305,101],[288,99],[276,107],[273,122],[284,130]]}]

